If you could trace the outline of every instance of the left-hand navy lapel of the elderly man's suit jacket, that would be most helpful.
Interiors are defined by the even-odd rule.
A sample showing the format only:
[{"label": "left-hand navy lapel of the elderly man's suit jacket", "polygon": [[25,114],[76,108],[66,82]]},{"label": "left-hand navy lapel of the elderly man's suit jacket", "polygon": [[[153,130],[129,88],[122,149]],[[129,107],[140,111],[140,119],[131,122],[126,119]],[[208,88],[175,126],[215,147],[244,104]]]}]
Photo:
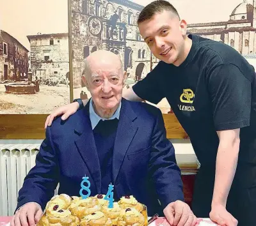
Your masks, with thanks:
[{"label": "left-hand navy lapel of the elderly man's suit jacket", "polygon": [[81,121],[77,123],[75,133],[77,134],[77,139],[75,140],[76,147],[92,176],[91,179],[95,182],[97,193],[100,193],[100,163],[89,116],[89,102],[83,109],[83,117],[81,117]]}]

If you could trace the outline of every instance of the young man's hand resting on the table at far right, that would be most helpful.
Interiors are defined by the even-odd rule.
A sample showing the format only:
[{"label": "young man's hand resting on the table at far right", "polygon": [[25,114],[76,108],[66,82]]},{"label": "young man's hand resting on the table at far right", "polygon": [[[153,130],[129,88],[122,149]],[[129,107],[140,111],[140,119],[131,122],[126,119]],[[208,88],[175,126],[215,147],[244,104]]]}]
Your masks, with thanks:
[{"label": "young man's hand resting on the table at far right", "polygon": [[237,220],[228,213],[225,206],[212,206],[212,210],[210,213],[210,218],[212,222],[218,223],[221,226],[237,226]]}]

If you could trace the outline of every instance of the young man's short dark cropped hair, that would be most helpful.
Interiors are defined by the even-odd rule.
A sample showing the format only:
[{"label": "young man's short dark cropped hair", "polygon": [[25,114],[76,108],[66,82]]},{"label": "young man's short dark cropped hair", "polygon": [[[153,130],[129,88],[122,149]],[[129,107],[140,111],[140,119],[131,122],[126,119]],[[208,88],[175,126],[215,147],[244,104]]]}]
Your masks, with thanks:
[{"label": "young man's short dark cropped hair", "polygon": [[143,10],[140,12],[140,15],[138,17],[137,24],[140,24],[145,20],[152,19],[152,17],[156,13],[162,13],[163,11],[170,11],[175,15],[177,15],[177,17],[179,17],[180,19],[178,11],[174,8],[174,6],[171,3],[164,0],[157,0],[157,1],[152,1],[152,3],[148,4],[143,8]]}]

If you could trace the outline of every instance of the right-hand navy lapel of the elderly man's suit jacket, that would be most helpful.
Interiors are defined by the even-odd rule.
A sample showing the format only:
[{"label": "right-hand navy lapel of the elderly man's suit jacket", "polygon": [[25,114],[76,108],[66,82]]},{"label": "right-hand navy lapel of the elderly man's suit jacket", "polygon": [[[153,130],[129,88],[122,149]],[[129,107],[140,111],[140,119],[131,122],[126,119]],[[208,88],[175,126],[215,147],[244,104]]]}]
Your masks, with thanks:
[{"label": "right-hand navy lapel of the elderly man's suit jacket", "polygon": [[131,105],[127,100],[122,99],[122,108],[120,110],[120,117],[116,131],[116,139],[113,151],[113,182],[115,183],[116,177],[124,160],[125,154],[134,139],[138,130],[138,126],[134,125],[136,114],[131,109]]}]

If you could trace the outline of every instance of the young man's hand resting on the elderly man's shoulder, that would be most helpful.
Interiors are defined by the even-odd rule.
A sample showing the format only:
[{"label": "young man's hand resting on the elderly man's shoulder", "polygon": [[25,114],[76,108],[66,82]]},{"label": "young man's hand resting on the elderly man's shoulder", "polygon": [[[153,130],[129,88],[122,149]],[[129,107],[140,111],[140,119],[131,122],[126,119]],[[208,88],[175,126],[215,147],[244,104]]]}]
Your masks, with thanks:
[{"label": "young man's hand resting on the elderly man's shoulder", "polygon": [[77,102],[68,103],[67,105],[59,107],[58,109],[54,110],[49,116],[47,116],[44,128],[46,129],[47,126],[51,126],[54,117],[63,114],[63,116],[61,116],[61,119],[66,120],[69,116],[74,114],[77,109],[79,109],[79,103]]}]

